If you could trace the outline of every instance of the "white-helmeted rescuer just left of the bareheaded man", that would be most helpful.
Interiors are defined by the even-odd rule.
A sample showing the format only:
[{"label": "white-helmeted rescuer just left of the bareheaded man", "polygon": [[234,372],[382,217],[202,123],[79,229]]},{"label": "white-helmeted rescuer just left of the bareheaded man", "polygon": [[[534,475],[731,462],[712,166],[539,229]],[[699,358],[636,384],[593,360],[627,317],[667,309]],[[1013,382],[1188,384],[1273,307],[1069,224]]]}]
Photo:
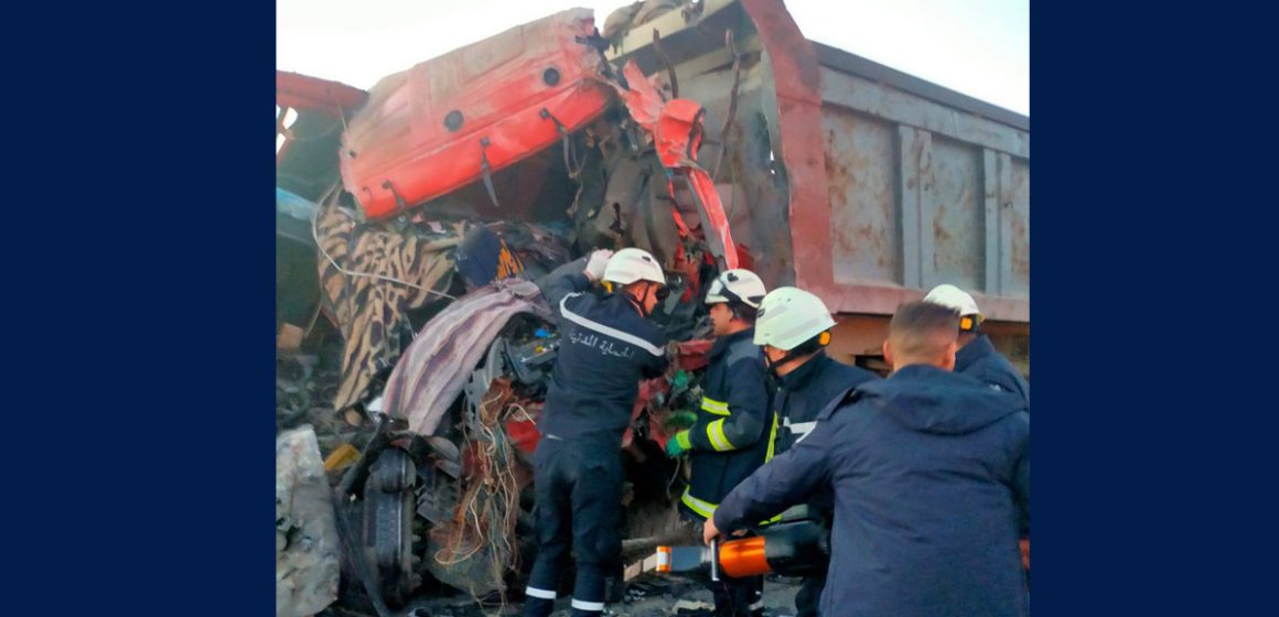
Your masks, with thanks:
[{"label": "white-helmeted rescuer just left of the bareheaded man", "polygon": [[[771,372],[776,376],[773,409],[778,422],[773,430],[771,459],[812,430],[817,413],[849,388],[879,379],[858,367],[835,362],[825,353],[830,328],[835,321],[826,304],[808,291],[796,287],[773,290],[760,307],[755,328],[756,345],[764,346]],[[829,494],[817,493],[808,507],[829,522],[834,503]],[[825,574],[806,576],[796,593],[798,617],[817,614]]]}]

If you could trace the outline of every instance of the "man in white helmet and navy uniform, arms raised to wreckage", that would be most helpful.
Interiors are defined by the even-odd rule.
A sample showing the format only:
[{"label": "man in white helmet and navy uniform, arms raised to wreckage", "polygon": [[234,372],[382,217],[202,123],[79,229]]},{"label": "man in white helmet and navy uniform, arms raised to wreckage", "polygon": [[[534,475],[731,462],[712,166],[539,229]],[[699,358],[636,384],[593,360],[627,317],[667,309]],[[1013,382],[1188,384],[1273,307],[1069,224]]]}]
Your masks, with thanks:
[{"label": "man in white helmet and navy uniform, arms raised to wreckage", "polygon": [[[601,278],[613,293],[583,293]],[[666,369],[665,337],[650,319],[665,284],[657,261],[636,248],[611,257],[595,252],[540,281],[559,317],[560,346],[533,455],[538,551],[526,616],[554,609],[570,548],[577,553],[572,614],[604,611],[605,579],[622,551],[622,436],[640,381]]]}]

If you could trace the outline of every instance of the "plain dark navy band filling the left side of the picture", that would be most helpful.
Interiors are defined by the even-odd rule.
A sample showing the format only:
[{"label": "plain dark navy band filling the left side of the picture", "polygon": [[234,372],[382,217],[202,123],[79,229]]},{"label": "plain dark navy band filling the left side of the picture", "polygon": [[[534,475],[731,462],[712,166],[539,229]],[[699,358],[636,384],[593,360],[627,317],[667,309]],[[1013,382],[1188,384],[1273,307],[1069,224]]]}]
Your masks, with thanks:
[{"label": "plain dark navy band filling the left side of the picture", "polygon": [[274,613],[271,9],[6,9],[6,614]]}]

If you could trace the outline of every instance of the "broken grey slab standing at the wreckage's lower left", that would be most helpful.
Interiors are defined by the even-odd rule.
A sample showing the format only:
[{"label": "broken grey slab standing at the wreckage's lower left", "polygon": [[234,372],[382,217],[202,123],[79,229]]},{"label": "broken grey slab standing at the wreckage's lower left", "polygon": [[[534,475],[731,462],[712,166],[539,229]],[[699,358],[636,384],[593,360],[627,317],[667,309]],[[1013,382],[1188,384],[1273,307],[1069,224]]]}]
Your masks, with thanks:
[{"label": "broken grey slab standing at the wreckage's lower left", "polygon": [[333,492],[310,425],[275,439],[275,614],[315,614],[338,599]]}]

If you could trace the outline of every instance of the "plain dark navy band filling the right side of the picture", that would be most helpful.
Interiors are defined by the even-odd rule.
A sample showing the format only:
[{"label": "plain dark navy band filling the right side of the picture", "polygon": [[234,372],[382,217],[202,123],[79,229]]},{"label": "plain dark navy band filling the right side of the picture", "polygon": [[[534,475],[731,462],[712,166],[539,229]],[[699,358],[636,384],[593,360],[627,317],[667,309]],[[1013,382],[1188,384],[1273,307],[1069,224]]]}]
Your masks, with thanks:
[{"label": "plain dark navy band filling the right side of the picture", "polygon": [[1040,616],[1273,611],[1271,26],[1032,8]]}]

